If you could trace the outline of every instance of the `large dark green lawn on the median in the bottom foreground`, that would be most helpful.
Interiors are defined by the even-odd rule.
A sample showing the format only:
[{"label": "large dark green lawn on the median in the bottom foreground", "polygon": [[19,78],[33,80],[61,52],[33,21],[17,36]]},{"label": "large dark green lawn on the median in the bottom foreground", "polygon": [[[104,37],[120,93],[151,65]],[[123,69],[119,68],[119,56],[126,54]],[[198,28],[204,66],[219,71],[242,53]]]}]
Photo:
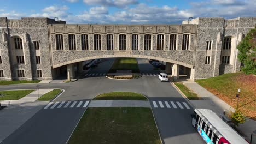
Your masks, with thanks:
[{"label": "large dark green lawn on the median in the bottom foreground", "polygon": [[80,143],[161,143],[150,108],[88,108],[69,144]]}]

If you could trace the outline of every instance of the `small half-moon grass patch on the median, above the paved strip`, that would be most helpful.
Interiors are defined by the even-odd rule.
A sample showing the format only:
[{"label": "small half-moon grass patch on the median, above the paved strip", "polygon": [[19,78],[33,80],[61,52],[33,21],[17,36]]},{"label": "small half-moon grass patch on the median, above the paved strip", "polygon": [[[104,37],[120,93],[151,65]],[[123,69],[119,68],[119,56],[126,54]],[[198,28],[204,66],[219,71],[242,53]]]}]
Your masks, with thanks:
[{"label": "small half-moon grass patch on the median, above the paved strip", "polygon": [[97,95],[93,100],[148,100],[144,95],[133,92],[110,92]]}]

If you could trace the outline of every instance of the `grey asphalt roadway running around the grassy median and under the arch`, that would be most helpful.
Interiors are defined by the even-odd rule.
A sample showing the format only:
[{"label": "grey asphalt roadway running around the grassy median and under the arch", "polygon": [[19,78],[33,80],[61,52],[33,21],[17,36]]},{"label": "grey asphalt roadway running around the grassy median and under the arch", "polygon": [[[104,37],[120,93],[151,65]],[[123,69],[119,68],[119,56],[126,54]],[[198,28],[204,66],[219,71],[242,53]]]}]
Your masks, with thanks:
[{"label": "grey asphalt roadway running around the grassy median and under the arch", "polygon": [[[107,73],[114,59],[103,59],[97,68],[89,73]],[[146,59],[138,59],[141,73],[156,73]],[[1,86],[3,89],[35,88],[38,84]],[[160,82],[158,76],[142,76],[139,79],[113,80],[104,76],[83,76],[76,82],[42,84],[41,88],[65,89],[56,101],[89,100],[96,95],[112,91],[138,92],[147,97],[152,104],[153,113],[163,143],[205,143],[191,126],[191,106],[169,82]],[[155,101],[158,107],[154,107]],[[170,106],[166,105],[166,102]],[[176,105],[174,108],[171,101]],[[160,102],[162,105],[160,105]],[[186,103],[189,107],[187,109]],[[183,106],[183,109],[179,107]],[[84,112],[77,109],[42,109],[22,127],[11,134],[3,143],[65,143],[75,124]],[[31,139],[31,140],[28,140]],[[2,143],[1,143],[2,144]]]}]

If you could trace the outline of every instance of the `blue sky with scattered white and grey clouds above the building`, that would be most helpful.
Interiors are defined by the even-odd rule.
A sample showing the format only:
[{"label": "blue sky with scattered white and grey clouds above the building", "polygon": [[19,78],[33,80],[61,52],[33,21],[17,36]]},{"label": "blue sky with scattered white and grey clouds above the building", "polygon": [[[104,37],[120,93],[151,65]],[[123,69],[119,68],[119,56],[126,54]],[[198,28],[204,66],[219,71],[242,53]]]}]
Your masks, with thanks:
[{"label": "blue sky with scattered white and grey clouds above the building", "polygon": [[189,17],[255,17],[256,0],[0,0],[0,17],[67,23],[181,23]]}]

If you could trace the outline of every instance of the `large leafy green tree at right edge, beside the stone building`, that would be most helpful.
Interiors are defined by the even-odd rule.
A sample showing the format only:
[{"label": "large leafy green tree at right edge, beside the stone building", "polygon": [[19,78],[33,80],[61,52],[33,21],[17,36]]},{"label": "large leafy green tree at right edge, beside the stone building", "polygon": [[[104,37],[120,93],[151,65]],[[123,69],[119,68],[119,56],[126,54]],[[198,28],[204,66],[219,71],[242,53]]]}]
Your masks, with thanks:
[{"label": "large leafy green tree at right edge, beside the stone building", "polygon": [[239,61],[245,64],[242,71],[246,74],[256,74],[256,26],[247,33],[237,49]]}]

